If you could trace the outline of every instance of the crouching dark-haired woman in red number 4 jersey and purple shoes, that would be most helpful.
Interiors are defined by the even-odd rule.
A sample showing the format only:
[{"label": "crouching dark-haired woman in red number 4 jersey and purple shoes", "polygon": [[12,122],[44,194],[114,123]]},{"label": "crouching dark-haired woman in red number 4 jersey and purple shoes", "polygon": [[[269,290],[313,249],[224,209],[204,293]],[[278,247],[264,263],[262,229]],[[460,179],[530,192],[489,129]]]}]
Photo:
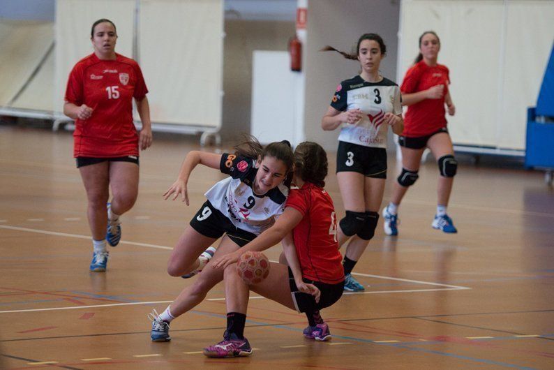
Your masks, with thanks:
[{"label": "crouching dark-haired woman in red number 4 jersey and purple shoes", "polygon": [[[343,294],[344,270],[336,239],[333,200],[324,190],[327,154],[315,142],[303,142],[294,151],[295,186],[285,212],[276,223],[234,253],[214,261],[225,268],[227,330],[223,341],[204,348],[208,357],[239,357],[252,354],[244,338],[249,290],[290,309],[306,313],[309,325],[304,336],[317,341],[331,338],[319,310],[334,304]],[[292,231],[292,232],[291,232]],[[271,262],[269,276],[250,287],[237,274],[237,260],[246,251],[263,251],[283,239],[289,266]]]}]

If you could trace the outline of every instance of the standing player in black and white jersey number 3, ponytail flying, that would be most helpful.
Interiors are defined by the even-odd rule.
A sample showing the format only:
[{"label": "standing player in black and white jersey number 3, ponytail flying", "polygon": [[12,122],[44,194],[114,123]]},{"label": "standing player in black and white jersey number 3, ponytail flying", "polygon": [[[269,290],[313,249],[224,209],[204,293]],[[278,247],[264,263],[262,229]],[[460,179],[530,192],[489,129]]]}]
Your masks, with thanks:
[{"label": "standing player in black and white jersey number 3, ponytail flying", "polygon": [[[324,47],[323,51],[336,51]],[[379,74],[387,47],[381,36],[364,34],[357,54],[339,52],[358,60],[361,73],[338,84],[331,106],[321,121],[325,131],[340,126],[337,150],[337,179],[346,216],[340,220],[338,244],[350,238],[343,266],[345,290],[361,291],[351,275],[356,262],[375,234],[387,179],[387,133],[389,126],[399,135],[404,124],[398,85]]]}]

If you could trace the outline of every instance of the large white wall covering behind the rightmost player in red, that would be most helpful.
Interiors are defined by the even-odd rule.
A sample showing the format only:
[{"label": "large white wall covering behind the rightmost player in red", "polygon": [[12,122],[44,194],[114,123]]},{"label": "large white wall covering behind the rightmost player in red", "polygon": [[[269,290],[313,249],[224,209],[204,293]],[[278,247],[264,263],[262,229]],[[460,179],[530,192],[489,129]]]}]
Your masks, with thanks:
[{"label": "large white wall covering behind the rightmost player in red", "polygon": [[400,75],[427,30],[450,69],[455,144],[525,149],[527,107],[535,105],[554,36],[551,0],[403,0]]}]

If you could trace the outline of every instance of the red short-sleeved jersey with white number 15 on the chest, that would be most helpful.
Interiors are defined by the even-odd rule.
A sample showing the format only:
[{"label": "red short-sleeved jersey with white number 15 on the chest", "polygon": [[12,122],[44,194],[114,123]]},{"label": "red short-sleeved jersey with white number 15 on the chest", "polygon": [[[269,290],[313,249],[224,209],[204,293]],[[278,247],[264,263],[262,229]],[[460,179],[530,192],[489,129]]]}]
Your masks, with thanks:
[{"label": "red short-sleeved jersey with white number 15 on the chest", "polygon": [[133,98],[142,100],[148,89],[137,62],[116,56],[115,60],[100,60],[91,54],[77,62],[69,74],[66,102],[93,109],[89,119],[75,120],[75,158],[139,154]]}]

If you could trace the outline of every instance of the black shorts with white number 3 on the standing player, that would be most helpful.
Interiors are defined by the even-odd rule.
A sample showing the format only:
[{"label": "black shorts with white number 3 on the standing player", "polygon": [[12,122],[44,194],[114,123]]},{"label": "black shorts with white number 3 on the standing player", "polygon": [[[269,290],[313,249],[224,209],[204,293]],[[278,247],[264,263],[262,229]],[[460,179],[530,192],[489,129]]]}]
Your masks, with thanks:
[{"label": "black shorts with white number 3 on the standing player", "polygon": [[375,179],[387,178],[387,149],[338,142],[336,172],[359,172]]}]

